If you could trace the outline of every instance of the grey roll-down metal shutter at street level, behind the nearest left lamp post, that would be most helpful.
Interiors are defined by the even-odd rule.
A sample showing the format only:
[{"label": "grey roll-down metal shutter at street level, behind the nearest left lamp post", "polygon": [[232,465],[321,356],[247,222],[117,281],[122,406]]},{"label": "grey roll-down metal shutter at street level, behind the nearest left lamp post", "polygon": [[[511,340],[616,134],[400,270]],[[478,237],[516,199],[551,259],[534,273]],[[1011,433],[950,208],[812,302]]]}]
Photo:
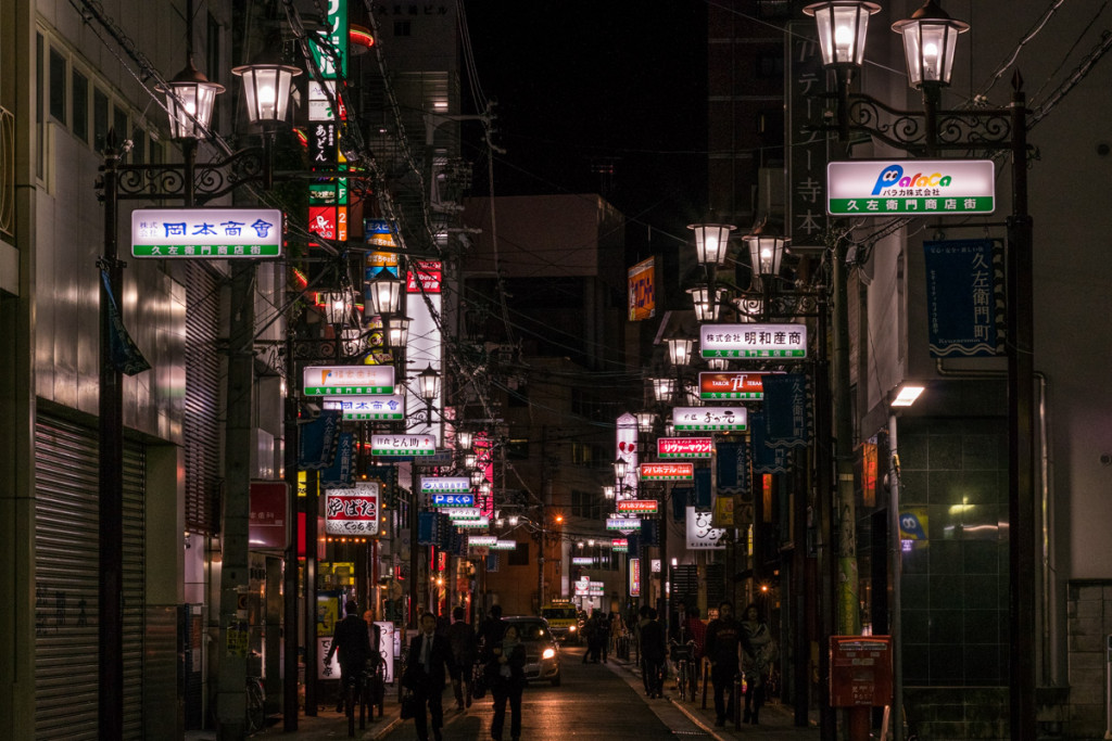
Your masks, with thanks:
[{"label": "grey roll-down metal shutter at street level, behind the nearest left lamp post", "polygon": [[[36,424],[34,727],[39,739],[96,739],[99,468],[93,430]],[[125,738],[142,738],[141,445],[123,447]]]}]

